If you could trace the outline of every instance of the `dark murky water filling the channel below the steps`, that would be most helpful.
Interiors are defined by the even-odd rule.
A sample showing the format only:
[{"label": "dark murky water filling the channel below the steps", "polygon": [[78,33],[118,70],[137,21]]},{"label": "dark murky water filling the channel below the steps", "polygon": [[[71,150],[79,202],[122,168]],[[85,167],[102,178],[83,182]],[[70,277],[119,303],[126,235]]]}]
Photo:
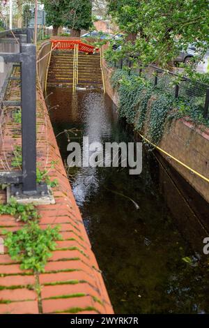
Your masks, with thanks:
[{"label": "dark murky water filling the channel below the steps", "polygon": [[[49,108],[59,104],[50,114],[64,162],[69,140],[133,140],[102,93],[78,91],[72,99],[69,89],[51,92]],[[63,132],[72,128],[77,135]],[[209,313],[209,255],[202,251],[208,234],[200,222],[209,217],[208,204],[162,164],[144,146],[139,176],[111,167],[68,173],[116,313]]]}]

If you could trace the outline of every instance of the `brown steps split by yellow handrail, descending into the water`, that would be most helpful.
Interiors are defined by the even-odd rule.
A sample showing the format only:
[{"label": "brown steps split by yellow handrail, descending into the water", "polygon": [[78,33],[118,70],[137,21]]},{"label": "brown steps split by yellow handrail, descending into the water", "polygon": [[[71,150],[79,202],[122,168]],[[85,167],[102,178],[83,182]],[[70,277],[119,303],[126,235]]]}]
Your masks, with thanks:
[{"label": "brown steps split by yellow handrail, descending into the water", "polygon": [[[73,51],[56,50],[52,53],[47,85],[49,87],[72,87]],[[78,85],[86,89],[102,89],[100,54],[79,52]]]}]

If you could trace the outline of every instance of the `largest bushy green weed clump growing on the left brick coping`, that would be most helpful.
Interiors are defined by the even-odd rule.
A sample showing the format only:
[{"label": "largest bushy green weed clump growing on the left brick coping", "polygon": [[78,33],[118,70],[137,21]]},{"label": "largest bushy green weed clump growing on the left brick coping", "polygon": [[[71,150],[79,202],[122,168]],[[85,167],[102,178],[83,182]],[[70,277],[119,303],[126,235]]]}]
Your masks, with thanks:
[{"label": "largest bushy green weed clump growing on the left brick coping", "polygon": [[31,269],[34,272],[45,271],[45,264],[56,249],[60,240],[59,228],[47,227],[42,230],[37,222],[29,222],[21,230],[7,232],[5,246],[10,257],[21,262],[21,269]]}]

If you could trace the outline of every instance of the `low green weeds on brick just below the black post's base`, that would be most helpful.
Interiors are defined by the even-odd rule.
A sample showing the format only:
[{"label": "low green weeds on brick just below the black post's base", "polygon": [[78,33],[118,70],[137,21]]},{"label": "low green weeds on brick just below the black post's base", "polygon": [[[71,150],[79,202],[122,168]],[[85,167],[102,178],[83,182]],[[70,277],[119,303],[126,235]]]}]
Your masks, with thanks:
[{"label": "low green weeds on brick just below the black post's base", "polygon": [[28,222],[39,218],[38,211],[33,204],[18,204],[15,198],[11,198],[8,204],[0,204],[0,215],[9,214],[15,216],[17,221]]}]

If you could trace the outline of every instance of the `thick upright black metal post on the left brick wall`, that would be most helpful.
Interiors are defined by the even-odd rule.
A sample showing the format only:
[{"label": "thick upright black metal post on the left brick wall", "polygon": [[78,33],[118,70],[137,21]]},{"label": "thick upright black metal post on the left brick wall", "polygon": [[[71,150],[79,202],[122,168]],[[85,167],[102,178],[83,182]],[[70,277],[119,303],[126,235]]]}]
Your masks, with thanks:
[{"label": "thick upright black metal post on the left brick wall", "polygon": [[34,195],[36,186],[36,46],[23,44],[21,64],[23,193]]}]

